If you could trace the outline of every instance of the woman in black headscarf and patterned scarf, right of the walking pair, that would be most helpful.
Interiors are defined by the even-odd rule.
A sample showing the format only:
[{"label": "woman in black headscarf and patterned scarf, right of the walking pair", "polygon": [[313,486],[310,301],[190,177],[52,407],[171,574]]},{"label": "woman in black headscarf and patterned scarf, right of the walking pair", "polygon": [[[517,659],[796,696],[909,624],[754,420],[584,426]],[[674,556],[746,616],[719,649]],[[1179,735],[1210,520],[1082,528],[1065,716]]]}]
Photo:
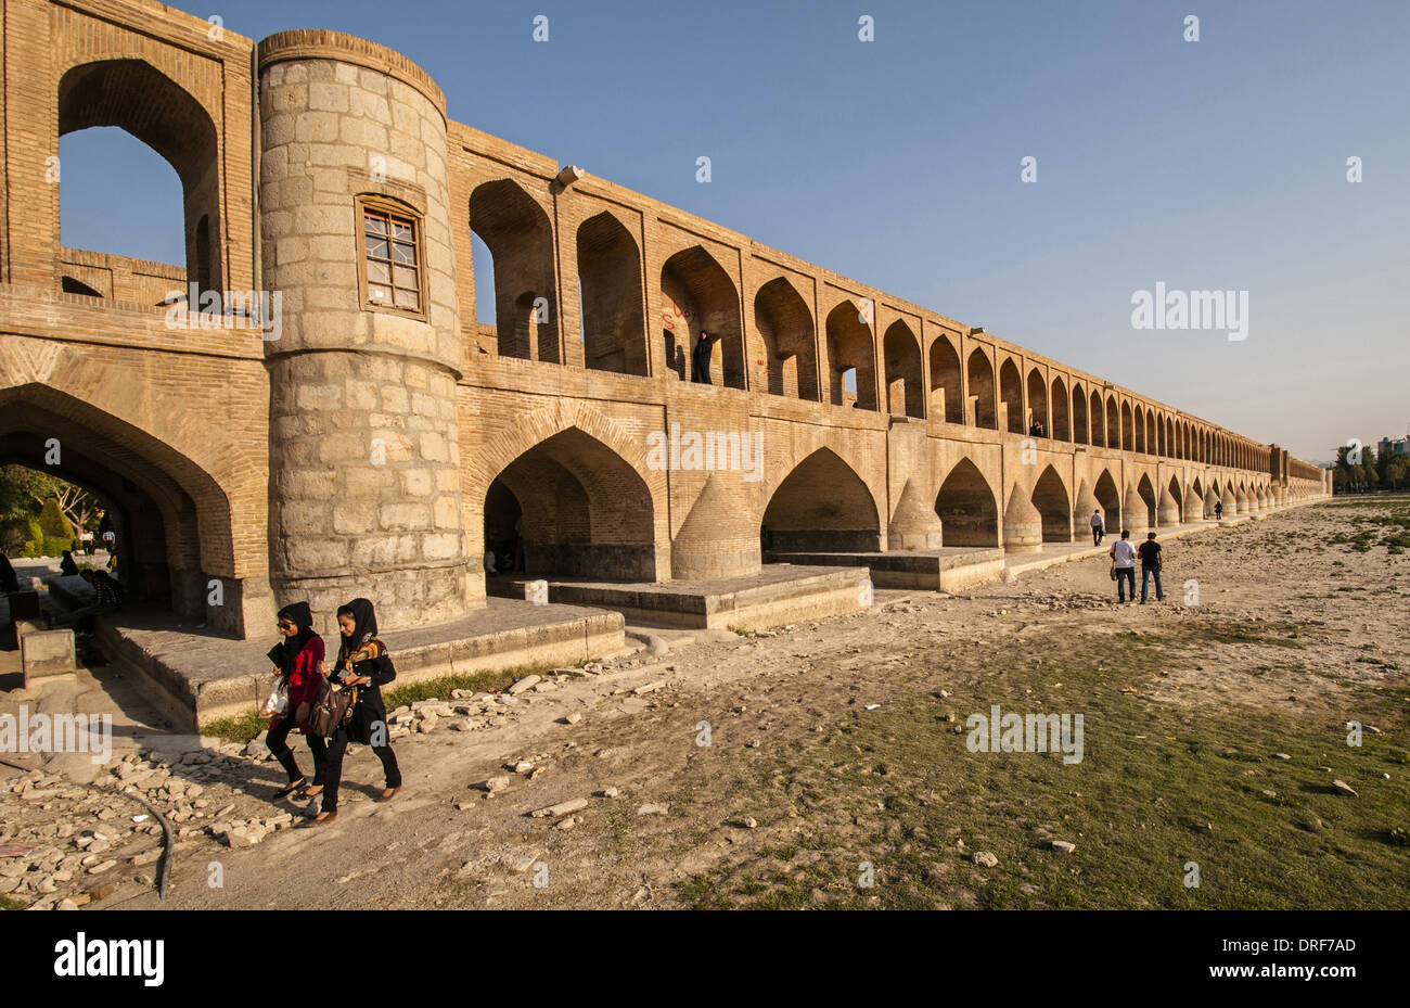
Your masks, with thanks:
[{"label": "woman in black headscarf and patterned scarf, right of the walking pair", "polygon": [[396,678],[396,668],[386,646],[376,637],[376,613],[367,599],[352,599],[338,606],[338,630],[343,646],[336,667],[329,672],[344,688],[357,689],[357,699],[347,718],[333,730],[323,757],[323,811],[309,825],[333,822],[338,816],[338,784],[343,781],[343,757],[348,743],[371,746],[382,761],[386,789],[376,801],[391,801],[402,789],[402,771],[388,744],[386,705],[382,687]]}]

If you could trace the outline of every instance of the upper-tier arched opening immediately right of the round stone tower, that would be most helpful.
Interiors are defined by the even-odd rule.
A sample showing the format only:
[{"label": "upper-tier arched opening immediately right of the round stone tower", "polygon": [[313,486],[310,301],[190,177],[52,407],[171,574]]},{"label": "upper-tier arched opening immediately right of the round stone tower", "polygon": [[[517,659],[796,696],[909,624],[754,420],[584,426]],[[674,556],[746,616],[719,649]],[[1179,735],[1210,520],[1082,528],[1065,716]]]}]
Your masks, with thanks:
[{"label": "upper-tier arched opening immediately right of the round stone tower", "polygon": [[[475,186],[470,195],[470,230],[489,251],[492,276],[485,279],[494,281],[499,355],[557,364],[558,302],[548,214],[517,183],[499,179]],[[475,279],[478,290],[478,272]]]}]

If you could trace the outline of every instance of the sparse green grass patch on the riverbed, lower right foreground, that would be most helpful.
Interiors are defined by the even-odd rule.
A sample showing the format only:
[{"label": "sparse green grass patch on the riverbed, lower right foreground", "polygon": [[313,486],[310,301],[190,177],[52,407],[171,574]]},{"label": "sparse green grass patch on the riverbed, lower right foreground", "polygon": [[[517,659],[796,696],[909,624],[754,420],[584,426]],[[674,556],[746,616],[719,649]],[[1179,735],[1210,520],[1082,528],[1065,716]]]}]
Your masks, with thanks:
[{"label": "sparse green grass patch on the riverbed, lower right foreground", "polygon": [[[1386,826],[1406,820],[1407,801],[1380,780],[1385,761],[1404,750],[1379,737],[1348,747],[1340,727],[1292,712],[1151,698],[1162,672],[1201,660],[1217,667],[1228,643],[1299,647],[1276,636],[1293,629],[1200,622],[1169,639],[1077,643],[1036,668],[1025,647],[995,647],[986,665],[1003,672],[950,682],[948,699],[918,691],[836,736],[809,737],[784,766],[735,764],[732,773],[753,780],[756,802],[795,802],[797,836],[729,852],[677,894],[692,906],[760,909],[1410,906],[1396,839],[1407,830]],[[1406,723],[1402,691],[1342,685],[1366,718],[1387,729]],[[987,715],[991,703],[1081,713],[1081,761],[969,751],[967,730],[936,720],[956,709],[963,723],[964,712]],[[1317,770],[1324,764],[1361,797],[1337,795]],[[719,787],[721,768],[712,774]],[[788,794],[770,792],[770,778],[787,780]],[[818,801],[799,802],[802,792]],[[780,808],[753,813],[766,822],[774,812],[787,822]],[[1050,840],[1076,852],[1053,852]],[[998,867],[974,864],[980,850]],[[1190,863],[1200,873],[1193,888]],[[874,870],[874,885],[862,881],[862,864]]]}]

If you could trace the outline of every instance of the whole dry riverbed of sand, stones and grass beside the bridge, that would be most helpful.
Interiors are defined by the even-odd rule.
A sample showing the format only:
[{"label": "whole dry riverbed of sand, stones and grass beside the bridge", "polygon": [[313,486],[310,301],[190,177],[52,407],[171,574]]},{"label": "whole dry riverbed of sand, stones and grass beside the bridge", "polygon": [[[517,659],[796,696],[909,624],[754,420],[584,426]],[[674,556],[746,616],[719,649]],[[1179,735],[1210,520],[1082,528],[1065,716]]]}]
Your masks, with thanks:
[{"label": "whole dry riverbed of sand, stones and grass beside the bridge", "polygon": [[[0,857],[0,898],[1406,908],[1406,499],[1327,502],[1172,540],[1163,603],[1115,606],[1086,558],[546,675],[512,703],[447,696],[395,740],[395,801],[350,757],[329,828],[272,801],[258,747],[131,756],[94,787],[0,767],[0,852],[27,847]],[[994,705],[1081,715],[1081,758],[971,751]],[[165,902],[128,784],[179,819]]]}]

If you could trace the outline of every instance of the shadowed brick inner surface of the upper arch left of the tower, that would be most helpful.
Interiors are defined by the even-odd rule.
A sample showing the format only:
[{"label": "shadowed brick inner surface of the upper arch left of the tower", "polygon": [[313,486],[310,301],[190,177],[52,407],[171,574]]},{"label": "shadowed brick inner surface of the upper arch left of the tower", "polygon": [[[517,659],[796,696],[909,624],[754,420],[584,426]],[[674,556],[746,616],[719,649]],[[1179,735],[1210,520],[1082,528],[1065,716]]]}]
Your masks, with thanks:
[{"label": "shadowed brick inner surface of the upper arch left of the tower", "polygon": [[220,240],[224,200],[219,114],[140,58],[66,68],[58,78],[56,109],[59,137],[117,127],[171,164],[182,183],[188,281],[223,289],[227,266]]}]

